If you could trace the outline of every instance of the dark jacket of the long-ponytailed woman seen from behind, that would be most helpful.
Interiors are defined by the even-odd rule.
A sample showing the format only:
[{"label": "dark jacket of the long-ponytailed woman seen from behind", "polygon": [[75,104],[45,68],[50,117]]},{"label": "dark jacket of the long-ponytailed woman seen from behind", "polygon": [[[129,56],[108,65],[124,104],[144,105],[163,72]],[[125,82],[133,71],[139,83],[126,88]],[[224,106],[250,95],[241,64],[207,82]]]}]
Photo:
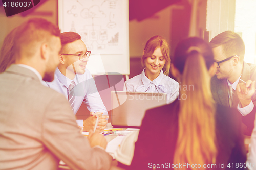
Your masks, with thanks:
[{"label": "dark jacket of the long-ponytailed woman seen from behind", "polygon": [[[218,156],[217,168],[213,169],[220,169],[219,163],[225,163],[226,168],[228,163],[244,163],[246,161],[243,136],[239,126],[240,120],[238,116],[233,116],[233,112],[237,112],[237,110],[221,105],[217,106]],[[151,167],[149,163],[173,164],[178,138],[178,113],[179,100],[146,111],[129,169],[149,169],[148,167]]]}]

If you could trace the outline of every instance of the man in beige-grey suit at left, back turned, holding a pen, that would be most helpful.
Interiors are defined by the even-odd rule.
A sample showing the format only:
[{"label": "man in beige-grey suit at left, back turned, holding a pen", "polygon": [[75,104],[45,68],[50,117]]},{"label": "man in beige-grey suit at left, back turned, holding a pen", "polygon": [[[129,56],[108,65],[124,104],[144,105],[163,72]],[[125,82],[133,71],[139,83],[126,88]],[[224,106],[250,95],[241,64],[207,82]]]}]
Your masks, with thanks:
[{"label": "man in beige-grey suit at left, back turned, holding a pen", "polygon": [[52,81],[59,64],[60,30],[34,18],[14,36],[14,58],[0,74],[0,168],[57,169],[59,160],[72,169],[109,169],[99,131],[79,134],[66,98],[41,84]]}]

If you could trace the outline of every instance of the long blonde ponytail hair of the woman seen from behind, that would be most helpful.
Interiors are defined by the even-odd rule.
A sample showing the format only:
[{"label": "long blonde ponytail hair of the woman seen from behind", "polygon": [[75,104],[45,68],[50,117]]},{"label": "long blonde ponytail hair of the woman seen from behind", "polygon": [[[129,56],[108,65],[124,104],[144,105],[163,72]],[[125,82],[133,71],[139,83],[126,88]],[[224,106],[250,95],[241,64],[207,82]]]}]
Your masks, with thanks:
[{"label": "long blonde ponytail hair of the woman seen from behind", "polygon": [[[195,47],[191,48],[192,45]],[[213,59],[209,45],[196,37],[181,41],[175,50],[173,62],[176,68],[182,69],[179,77],[181,86],[193,85],[193,90],[180,91],[186,99],[180,101],[174,164],[200,164],[204,169],[204,164],[216,162],[215,103],[207,68],[213,64]],[[184,65],[180,65],[181,60],[184,60]]]}]

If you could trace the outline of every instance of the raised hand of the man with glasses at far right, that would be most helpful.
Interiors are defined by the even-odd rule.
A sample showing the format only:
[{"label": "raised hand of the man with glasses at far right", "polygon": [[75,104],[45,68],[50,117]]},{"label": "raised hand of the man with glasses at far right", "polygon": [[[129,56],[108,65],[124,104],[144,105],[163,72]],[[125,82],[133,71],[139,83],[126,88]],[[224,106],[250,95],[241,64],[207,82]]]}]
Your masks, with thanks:
[{"label": "raised hand of the man with glasses at far right", "polygon": [[255,80],[254,81],[248,80],[246,84],[239,83],[237,85],[236,91],[242,107],[249,105],[251,102],[251,97],[255,93]]}]

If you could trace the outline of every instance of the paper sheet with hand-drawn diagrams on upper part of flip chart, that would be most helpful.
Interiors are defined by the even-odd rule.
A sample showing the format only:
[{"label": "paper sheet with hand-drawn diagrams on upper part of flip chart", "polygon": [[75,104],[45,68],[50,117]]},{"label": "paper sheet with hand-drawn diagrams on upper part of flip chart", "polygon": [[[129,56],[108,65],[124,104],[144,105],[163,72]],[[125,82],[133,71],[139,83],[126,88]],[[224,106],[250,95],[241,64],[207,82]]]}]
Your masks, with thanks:
[{"label": "paper sheet with hand-drawn diagrams on upper part of flip chart", "polygon": [[[62,32],[81,35],[93,54],[125,53],[123,0],[65,0]],[[126,18],[125,18],[126,19]],[[60,26],[61,27],[61,26]],[[126,26],[125,26],[126,27]]]}]

